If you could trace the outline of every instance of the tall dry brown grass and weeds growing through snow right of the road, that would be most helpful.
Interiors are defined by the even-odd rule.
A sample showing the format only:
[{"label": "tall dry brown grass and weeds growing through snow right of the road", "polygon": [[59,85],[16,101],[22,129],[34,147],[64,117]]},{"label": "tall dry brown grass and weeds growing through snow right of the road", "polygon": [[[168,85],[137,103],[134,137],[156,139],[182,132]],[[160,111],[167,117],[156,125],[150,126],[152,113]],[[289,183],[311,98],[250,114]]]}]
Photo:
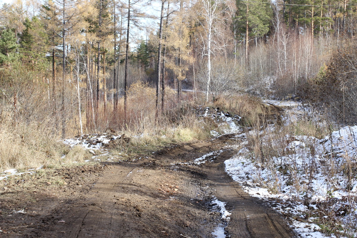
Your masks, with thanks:
[{"label": "tall dry brown grass and weeds growing through snow right of the road", "polygon": [[[313,217],[313,222],[319,224],[323,232],[334,233],[337,237],[353,237],[357,222],[354,215],[356,195],[348,193],[350,195],[340,199],[334,197],[333,192],[338,189],[351,191],[351,182],[357,176],[356,159],[348,156],[351,151],[342,151],[345,156],[341,157],[318,144],[319,139],[338,130],[329,119],[330,115],[305,110],[291,111],[283,116],[288,119],[287,122],[276,123],[265,130],[261,125],[255,125],[251,132],[246,133],[249,151],[243,152],[242,156],[251,159],[257,172],[261,171],[268,178],[262,179],[262,175],[258,174],[255,182],[272,193],[287,194],[282,190],[283,177],[283,188],[289,187],[287,195],[290,201],[310,209],[305,212],[306,218]],[[348,140],[342,145],[351,145],[355,138]],[[289,143],[293,141],[303,142],[304,145],[289,148]],[[329,189],[321,202],[311,197],[315,194],[315,176],[319,177],[319,174],[328,178],[325,186]],[[347,184],[342,184],[341,179],[348,181]],[[317,204],[318,209],[312,209],[310,204]]]}]

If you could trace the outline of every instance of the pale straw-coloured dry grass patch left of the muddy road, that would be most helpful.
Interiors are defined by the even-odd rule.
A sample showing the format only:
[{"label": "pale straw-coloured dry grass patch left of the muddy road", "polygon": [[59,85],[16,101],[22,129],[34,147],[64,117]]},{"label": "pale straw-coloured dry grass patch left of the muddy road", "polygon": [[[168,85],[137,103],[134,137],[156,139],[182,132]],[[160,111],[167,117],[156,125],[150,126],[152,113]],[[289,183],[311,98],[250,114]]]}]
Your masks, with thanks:
[{"label": "pale straw-coloured dry grass patch left of the muddy road", "polygon": [[59,136],[46,130],[41,123],[14,123],[11,114],[1,118],[0,171],[81,162],[88,156],[82,147],[70,150],[60,141]]}]

